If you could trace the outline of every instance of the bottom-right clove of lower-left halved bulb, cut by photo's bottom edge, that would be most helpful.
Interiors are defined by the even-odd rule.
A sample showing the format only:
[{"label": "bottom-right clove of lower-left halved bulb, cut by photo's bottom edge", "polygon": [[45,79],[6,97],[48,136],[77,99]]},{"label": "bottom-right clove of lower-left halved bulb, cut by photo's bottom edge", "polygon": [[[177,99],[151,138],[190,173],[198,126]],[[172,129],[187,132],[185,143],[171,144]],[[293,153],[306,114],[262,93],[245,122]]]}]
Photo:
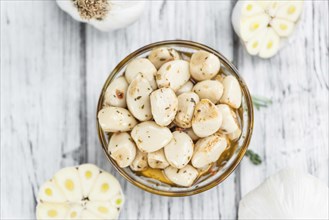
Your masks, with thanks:
[{"label": "bottom-right clove of lower-left halved bulb, cut by photo's bottom edge", "polygon": [[119,217],[119,211],[110,202],[91,201],[86,204],[86,208],[102,219],[118,219]]}]

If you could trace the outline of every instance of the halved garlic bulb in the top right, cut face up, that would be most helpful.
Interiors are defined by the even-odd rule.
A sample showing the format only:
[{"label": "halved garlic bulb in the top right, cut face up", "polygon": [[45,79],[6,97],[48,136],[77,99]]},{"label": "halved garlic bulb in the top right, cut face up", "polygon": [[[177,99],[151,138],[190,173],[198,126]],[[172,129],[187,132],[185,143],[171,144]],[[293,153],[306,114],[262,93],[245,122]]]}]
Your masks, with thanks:
[{"label": "halved garlic bulb in the top right, cut face up", "polygon": [[274,56],[292,35],[303,9],[303,1],[238,1],[232,24],[250,55]]}]

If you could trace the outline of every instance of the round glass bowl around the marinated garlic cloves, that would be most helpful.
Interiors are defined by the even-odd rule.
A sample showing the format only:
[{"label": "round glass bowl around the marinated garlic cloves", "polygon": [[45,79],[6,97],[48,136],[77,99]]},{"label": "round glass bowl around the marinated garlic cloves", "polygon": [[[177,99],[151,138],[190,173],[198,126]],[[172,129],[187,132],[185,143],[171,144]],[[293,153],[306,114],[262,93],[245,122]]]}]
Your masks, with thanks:
[{"label": "round glass bowl around the marinated garlic cloves", "polygon": [[242,104],[240,108],[242,134],[237,144],[235,145],[234,149],[227,153],[224,152],[221,155],[221,157],[225,157],[224,162],[219,165],[218,167],[219,169],[216,171],[216,173],[210,173],[206,176],[203,176],[202,178],[198,179],[198,181],[194,185],[190,187],[178,187],[178,186],[170,186],[164,184],[155,179],[139,176],[136,173],[134,173],[132,170],[130,170],[129,167],[128,168],[119,167],[115,162],[115,160],[113,160],[110,157],[110,154],[107,151],[108,136],[105,132],[103,132],[102,128],[100,127],[96,113],[98,136],[107,159],[112,163],[112,165],[116,168],[116,170],[132,184],[138,186],[139,188],[145,191],[162,196],[179,197],[179,196],[195,195],[204,192],[208,189],[211,189],[212,187],[223,182],[235,170],[235,168],[239,165],[240,161],[245,155],[253,131],[254,115],[253,115],[252,99],[249,94],[248,88],[245,82],[243,81],[243,79],[241,78],[241,76],[238,74],[238,70],[236,69],[236,67],[230,61],[228,61],[221,53],[200,43],[186,41],[186,40],[170,40],[170,41],[161,41],[161,42],[156,42],[153,44],[146,45],[136,50],[135,52],[129,54],[126,58],[124,58],[110,73],[103,86],[98,100],[97,112],[101,110],[103,107],[103,100],[104,100],[104,94],[106,88],[112,82],[113,79],[124,74],[125,68],[129,63],[129,61],[137,57],[147,57],[149,52],[153,48],[160,46],[174,48],[177,51],[187,52],[187,53],[193,53],[197,50],[208,51],[216,55],[220,59],[222,73],[226,75],[233,75],[238,79],[242,90]]}]

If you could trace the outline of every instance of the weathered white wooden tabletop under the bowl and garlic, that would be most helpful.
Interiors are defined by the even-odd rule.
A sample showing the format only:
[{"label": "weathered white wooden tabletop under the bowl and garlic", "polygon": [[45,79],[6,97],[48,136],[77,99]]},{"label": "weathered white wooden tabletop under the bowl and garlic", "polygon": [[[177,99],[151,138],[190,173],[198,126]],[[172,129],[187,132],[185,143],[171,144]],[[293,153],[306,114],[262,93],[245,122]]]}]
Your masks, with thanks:
[{"label": "weathered white wooden tabletop under the bowl and garlic", "polygon": [[[120,180],[122,219],[235,219],[240,198],[286,166],[328,184],[328,2],[306,1],[294,40],[272,59],[250,57],[230,23],[231,1],[151,1],[127,29],[102,33],[72,20],[53,1],[1,0],[1,218],[35,218],[40,184],[58,169],[95,163]],[[254,95],[273,100],[255,111],[245,158],[221,185],[168,198],[126,182],[103,155],[95,109],[108,73],[151,42],[187,39],[237,65]]]}]

